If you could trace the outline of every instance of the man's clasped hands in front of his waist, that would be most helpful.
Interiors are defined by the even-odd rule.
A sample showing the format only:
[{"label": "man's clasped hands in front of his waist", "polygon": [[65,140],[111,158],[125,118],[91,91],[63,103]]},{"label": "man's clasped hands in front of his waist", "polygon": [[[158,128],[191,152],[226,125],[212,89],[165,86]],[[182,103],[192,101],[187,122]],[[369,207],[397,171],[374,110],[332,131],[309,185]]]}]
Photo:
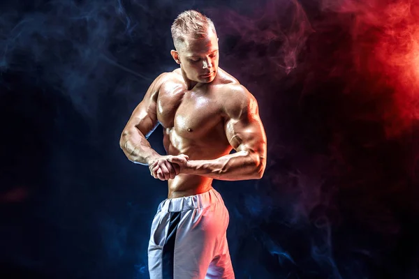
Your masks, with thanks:
[{"label": "man's clasped hands in front of his waist", "polygon": [[160,156],[159,158],[156,158],[152,160],[152,163],[149,164],[149,170],[152,176],[155,179],[160,179],[161,181],[174,179],[177,174],[179,174],[181,167],[177,163],[172,163],[170,160],[175,159],[175,162],[179,162],[183,164],[186,164],[188,160],[188,156],[184,154],[180,154],[177,156]]}]

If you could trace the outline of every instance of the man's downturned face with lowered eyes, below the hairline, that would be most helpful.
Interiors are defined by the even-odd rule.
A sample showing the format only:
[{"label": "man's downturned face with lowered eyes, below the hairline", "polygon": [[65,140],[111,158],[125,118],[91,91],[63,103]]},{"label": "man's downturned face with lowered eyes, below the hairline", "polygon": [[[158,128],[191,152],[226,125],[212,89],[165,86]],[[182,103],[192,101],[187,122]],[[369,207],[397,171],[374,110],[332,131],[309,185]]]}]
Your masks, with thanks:
[{"label": "man's downturned face with lowered eyes, below the hairline", "polygon": [[212,82],[219,65],[216,33],[209,29],[205,38],[186,37],[178,56],[180,66],[189,80],[201,83]]}]

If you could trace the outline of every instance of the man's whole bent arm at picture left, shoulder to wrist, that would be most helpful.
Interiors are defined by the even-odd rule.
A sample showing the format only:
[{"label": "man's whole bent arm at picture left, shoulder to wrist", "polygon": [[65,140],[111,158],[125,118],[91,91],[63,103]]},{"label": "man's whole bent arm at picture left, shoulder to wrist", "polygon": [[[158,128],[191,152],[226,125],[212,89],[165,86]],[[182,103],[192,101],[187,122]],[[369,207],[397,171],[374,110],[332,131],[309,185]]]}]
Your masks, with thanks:
[{"label": "man's whole bent arm at picture left, shoulder to wrist", "polygon": [[131,118],[122,131],[119,146],[128,160],[141,165],[149,165],[160,157],[152,149],[147,137],[159,125],[157,120],[156,102],[161,84],[170,73],[163,73],[149,86],[141,103],[135,107]]}]

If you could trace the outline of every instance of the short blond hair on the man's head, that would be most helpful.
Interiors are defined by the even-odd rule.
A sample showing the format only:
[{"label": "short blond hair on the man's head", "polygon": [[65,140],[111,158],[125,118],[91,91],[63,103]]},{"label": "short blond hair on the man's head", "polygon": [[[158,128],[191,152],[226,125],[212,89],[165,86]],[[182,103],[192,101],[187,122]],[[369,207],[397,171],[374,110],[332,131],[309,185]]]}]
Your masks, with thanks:
[{"label": "short blond hair on the man's head", "polygon": [[205,38],[208,29],[212,29],[216,33],[214,22],[209,17],[196,10],[185,10],[176,17],[171,28],[176,50],[179,50],[186,36],[197,39]]}]

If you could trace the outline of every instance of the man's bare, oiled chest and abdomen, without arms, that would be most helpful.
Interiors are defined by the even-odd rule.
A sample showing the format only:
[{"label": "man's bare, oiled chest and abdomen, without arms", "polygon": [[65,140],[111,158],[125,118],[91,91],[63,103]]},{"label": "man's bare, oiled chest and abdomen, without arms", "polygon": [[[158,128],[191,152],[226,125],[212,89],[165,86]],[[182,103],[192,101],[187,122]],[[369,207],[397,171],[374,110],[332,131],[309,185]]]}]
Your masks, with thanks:
[{"label": "man's bare, oiled chest and abdomen, without arms", "polygon": [[[237,80],[219,68],[209,84],[188,90],[180,69],[170,73],[157,98],[157,119],[163,126],[163,145],[169,155],[180,153],[189,160],[211,160],[232,150],[225,133],[224,90]],[[198,195],[210,190],[212,179],[179,174],[168,181],[168,197]]]}]

